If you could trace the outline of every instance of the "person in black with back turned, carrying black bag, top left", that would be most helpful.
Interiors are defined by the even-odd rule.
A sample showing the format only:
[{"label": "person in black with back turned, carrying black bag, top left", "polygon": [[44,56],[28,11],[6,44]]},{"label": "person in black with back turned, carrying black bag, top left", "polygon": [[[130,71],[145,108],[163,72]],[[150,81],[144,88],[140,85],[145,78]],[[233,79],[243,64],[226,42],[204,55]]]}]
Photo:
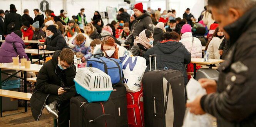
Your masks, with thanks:
[{"label": "person in black with back turned, carrying black bag, top left", "polygon": [[[3,24],[3,35],[12,33],[13,31],[20,30],[23,26],[20,14],[16,13],[15,5],[10,5],[10,13],[5,15],[5,22]],[[13,27],[12,27],[13,26]]]}]

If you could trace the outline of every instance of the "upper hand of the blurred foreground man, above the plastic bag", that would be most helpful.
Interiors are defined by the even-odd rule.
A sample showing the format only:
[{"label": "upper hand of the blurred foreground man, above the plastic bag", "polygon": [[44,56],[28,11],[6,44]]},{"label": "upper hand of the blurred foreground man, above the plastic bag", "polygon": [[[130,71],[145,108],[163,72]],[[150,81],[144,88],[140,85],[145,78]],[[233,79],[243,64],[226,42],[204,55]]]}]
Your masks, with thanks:
[{"label": "upper hand of the blurred foreground man, above the plastic bag", "polygon": [[217,83],[215,80],[201,78],[198,82],[201,84],[202,88],[206,90],[206,94],[216,93]]}]

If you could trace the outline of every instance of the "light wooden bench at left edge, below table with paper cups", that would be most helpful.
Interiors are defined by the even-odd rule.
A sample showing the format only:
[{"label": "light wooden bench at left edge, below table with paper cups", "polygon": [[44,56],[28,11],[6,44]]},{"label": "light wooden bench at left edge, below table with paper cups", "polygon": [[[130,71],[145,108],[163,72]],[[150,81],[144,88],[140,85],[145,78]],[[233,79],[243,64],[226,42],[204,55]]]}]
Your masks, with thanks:
[{"label": "light wooden bench at left edge, below table with paper cups", "polygon": [[30,101],[32,93],[23,93],[23,92],[0,89],[0,96],[11,98],[11,101],[14,101],[17,99],[23,99],[23,100]]}]

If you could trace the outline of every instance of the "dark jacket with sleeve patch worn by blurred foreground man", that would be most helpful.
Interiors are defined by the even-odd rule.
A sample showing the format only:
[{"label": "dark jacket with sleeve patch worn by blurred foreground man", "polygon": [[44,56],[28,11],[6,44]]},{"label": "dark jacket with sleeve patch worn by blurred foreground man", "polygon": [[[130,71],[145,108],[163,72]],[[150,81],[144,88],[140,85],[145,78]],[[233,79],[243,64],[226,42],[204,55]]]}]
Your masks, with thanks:
[{"label": "dark jacket with sleeve patch worn by blurred foreground man", "polygon": [[256,6],[224,27],[230,36],[225,61],[218,68],[216,93],[201,98],[202,109],[218,127],[256,127]]}]

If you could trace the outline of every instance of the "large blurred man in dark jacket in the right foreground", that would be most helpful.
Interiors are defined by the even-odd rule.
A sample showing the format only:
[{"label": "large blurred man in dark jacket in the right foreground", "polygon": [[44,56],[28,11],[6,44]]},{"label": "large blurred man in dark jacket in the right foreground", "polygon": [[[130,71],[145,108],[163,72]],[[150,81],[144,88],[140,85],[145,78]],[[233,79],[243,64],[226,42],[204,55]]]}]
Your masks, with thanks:
[{"label": "large blurred man in dark jacket in the right foreground", "polygon": [[208,6],[231,47],[218,68],[218,83],[200,79],[207,95],[187,107],[216,117],[218,127],[256,127],[256,1],[208,0]]}]

